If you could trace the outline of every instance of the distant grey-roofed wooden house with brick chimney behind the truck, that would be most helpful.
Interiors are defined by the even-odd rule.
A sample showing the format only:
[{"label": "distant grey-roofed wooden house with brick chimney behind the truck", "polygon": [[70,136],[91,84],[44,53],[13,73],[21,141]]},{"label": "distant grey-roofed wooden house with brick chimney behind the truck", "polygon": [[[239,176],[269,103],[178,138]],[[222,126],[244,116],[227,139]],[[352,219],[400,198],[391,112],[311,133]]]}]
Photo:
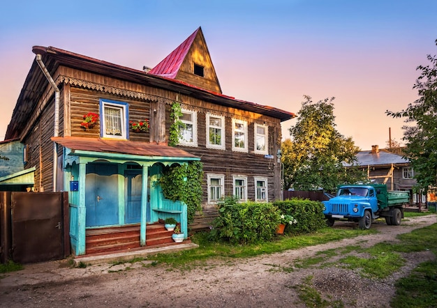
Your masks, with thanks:
[{"label": "distant grey-roofed wooden house with brick chimney behind the truck", "polygon": [[357,165],[363,167],[369,180],[387,184],[388,190],[408,190],[411,204],[426,202],[426,195],[413,193],[414,170],[401,155],[372,146],[371,151],[357,153]]}]

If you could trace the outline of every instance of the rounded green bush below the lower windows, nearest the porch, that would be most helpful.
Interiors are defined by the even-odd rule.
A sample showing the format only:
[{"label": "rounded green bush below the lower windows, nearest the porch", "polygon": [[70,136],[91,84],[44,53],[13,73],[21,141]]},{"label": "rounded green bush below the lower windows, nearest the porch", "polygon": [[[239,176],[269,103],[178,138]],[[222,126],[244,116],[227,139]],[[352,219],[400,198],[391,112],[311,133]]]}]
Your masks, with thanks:
[{"label": "rounded green bush below the lower windows, nearest the porch", "polygon": [[218,203],[218,215],[210,236],[243,245],[272,240],[281,220],[272,203],[239,203],[235,197]]}]

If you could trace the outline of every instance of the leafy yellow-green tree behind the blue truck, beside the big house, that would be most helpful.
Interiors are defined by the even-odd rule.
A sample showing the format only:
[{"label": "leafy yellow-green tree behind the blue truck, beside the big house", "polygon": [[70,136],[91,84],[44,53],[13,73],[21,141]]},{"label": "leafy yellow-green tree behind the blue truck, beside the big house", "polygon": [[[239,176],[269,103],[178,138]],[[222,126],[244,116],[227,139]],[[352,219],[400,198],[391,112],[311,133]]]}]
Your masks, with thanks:
[{"label": "leafy yellow-green tree behind the blue truck, beside the big house", "polygon": [[284,187],[332,192],[339,184],[364,180],[357,167],[344,167],[354,165],[360,149],[336,130],[334,98],[316,103],[307,95],[304,98],[297,123],[290,128],[292,140],[284,141],[281,148]]}]

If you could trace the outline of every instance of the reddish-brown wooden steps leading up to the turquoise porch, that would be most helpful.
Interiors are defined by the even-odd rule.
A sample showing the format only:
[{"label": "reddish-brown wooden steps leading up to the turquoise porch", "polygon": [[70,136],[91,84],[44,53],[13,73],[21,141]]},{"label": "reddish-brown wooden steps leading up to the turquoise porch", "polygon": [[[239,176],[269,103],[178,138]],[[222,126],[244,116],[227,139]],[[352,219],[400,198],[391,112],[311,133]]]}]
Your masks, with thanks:
[{"label": "reddish-brown wooden steps leading up to the turquoise porch", "polygon": [[[173,231],[167,231],[163,224],[148,224],[146,246],[162,247],[172,245]],[[140,225],[112,226],[87,229],[85,254],[101,254],[140,248]]]}]

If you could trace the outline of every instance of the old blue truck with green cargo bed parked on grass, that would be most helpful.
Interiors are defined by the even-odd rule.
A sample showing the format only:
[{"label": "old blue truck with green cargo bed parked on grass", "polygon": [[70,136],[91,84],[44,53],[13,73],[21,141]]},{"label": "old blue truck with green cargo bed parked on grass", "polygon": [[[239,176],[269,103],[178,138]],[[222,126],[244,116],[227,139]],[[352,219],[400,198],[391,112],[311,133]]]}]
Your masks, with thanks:
[{"label": "old blue truck with green cargo bed parked on grass", "polygon": [[360,229],[370,229],[379,217],[385,217],[388,225],[399,226],[409,202],[409,192],[389,192],[385,184],[341,185],[336,197],[323,201],[323,214],[328,226],[347,220],[358,222]]}]

